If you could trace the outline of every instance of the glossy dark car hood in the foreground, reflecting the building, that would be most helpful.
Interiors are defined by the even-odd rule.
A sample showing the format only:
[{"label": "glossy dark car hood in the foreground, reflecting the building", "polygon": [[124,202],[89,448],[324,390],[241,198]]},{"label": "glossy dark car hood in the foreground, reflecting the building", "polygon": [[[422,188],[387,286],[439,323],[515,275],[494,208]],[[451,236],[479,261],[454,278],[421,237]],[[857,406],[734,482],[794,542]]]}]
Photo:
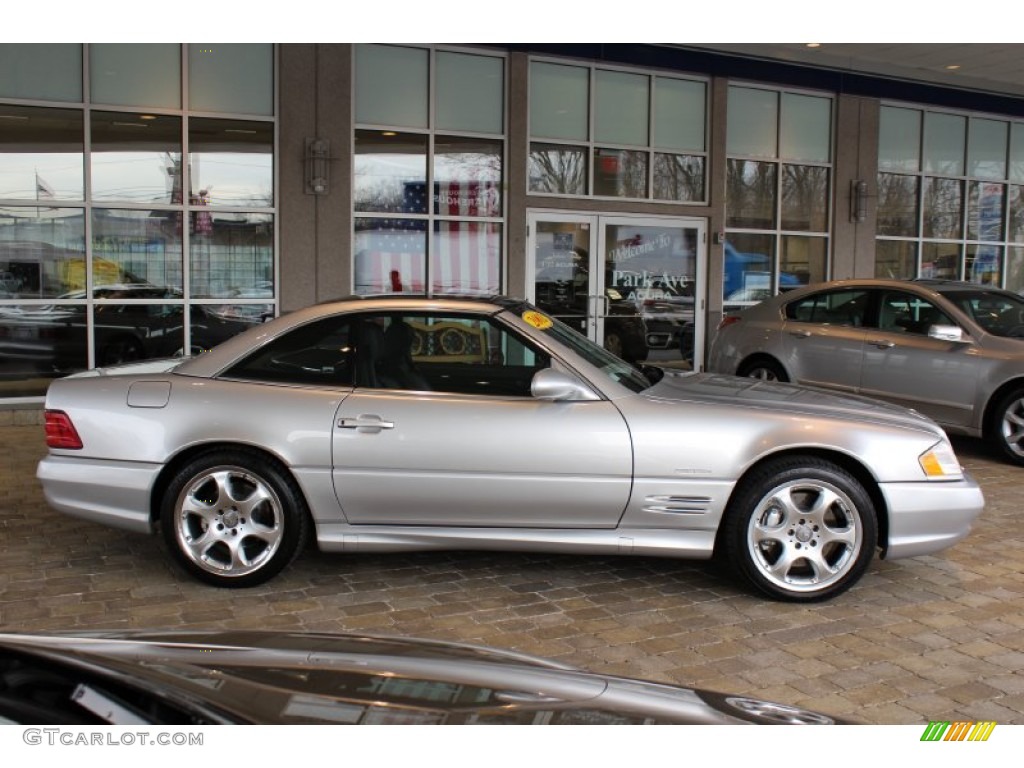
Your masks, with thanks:
[{"label": "glossy dark car hood in the foreground, reflecting the building", "polygon": [[839,722],[511,652],[372,636],[0,635],[0,685],[14,679],[26,701],[19,711],[2,697],[0,722],[26,725]]}]

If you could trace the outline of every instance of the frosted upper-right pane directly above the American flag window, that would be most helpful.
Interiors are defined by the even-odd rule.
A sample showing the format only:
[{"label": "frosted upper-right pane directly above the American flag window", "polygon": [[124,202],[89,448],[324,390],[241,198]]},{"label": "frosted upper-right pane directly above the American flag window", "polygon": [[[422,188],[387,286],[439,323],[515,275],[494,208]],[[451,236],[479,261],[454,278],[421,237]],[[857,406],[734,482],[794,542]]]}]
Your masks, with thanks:
[{"label": "frosted upper-right pane directly above the American flag window", "polygon": [[504,132],[504,59],[439,51],[435,66],[437,129]]}]

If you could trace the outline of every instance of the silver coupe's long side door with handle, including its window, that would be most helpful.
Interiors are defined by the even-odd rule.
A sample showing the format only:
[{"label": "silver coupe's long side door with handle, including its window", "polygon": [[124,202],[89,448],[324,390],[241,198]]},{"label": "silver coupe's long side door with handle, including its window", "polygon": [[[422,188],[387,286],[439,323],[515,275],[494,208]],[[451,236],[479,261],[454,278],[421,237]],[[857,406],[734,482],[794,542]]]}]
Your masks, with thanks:
[{"label": "silver coupe's long side door with handle, including its window", "polygon": [[[614,527],[629,500],[633,452],[602,399],[530,396],[547,353],[485,315],[365,315],[367,328],[413,331],[416,379],[357,373],[338,409],[333,474],[350,523]],[[386,333],[384,328],[384,333]],[[364,334],[370,356],[382,338]],[[358,344],[358,342],[357,342]],[[374,348],[380,351],[374,351]],[[394,350],[392,350],[393,352]],[[400,350],[399,350],[400,351]],[[357,371],[391,371],[386,360]]]}]

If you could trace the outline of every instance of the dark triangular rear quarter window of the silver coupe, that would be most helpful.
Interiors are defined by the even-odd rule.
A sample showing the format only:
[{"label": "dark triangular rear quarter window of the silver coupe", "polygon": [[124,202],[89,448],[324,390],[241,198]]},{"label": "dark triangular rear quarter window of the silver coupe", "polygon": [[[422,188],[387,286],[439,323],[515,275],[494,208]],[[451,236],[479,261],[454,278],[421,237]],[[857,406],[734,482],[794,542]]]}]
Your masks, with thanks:
[{"label": "dark triangular rear quarter window of the silver coupe", "polygon": [[350,315],[294,328],[228,369],[231,379],[276,384],[350,387],[354,354]]}]

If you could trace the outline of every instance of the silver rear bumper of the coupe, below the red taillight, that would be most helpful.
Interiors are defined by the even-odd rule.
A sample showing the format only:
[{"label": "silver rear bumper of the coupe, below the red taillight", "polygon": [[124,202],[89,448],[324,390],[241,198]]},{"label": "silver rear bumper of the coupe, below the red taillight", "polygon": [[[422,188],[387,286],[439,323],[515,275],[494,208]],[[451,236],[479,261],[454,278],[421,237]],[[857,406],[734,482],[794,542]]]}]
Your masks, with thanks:
[{"label": "silver rear bumper of the coupe, below the red taillight", "polygon": [[65,514],[151,534],[150,499],[161,467],[51,454],[39,462],[36,477],[47,503]]}]

